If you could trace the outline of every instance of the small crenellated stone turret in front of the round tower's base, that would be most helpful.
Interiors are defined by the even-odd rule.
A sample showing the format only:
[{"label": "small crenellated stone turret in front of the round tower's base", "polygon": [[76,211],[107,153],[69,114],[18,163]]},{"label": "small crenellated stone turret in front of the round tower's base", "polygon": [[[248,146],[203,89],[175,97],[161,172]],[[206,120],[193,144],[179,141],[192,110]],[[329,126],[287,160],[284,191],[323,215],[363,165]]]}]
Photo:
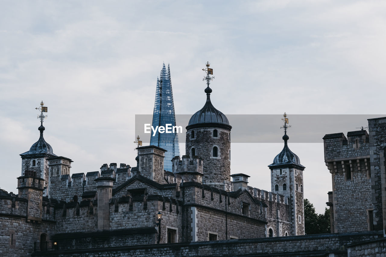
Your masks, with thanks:
[{"label": "small crenellated stone turret in front of the round tower's base", "polygon": [[202,183],[203,177],[203,161],[198,156],[190,158],[188,155],[183,155],[182,159],[176,156],[172,159],[172,169],[175,174],[179,174],[184,181],[195,181]]}]

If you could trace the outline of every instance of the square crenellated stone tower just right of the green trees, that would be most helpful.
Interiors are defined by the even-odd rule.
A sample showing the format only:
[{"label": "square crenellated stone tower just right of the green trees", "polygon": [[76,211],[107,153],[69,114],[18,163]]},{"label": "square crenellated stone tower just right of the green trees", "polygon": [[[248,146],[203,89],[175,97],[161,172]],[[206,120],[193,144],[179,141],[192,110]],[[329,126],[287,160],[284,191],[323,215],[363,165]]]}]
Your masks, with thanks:
[{"label": "square crenellated stone tower just right of the green trees", "polygon": [[[332,231],[367,231],[373,210],[370,143],[366,130],[323,137],[325,162],[332,174]],[[330,202],[330,200],[328,200]]]}]

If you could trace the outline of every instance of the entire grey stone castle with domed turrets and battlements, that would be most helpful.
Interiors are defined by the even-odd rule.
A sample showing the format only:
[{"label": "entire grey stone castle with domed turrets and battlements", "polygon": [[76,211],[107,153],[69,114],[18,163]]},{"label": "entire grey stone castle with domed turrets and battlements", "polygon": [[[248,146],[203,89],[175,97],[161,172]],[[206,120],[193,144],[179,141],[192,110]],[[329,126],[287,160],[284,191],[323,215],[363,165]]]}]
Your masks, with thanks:
[{"label": "entire grey stone castle with domed turrets and battlements", "polygon": [[110,163],[71,175],[71,159],[54,154],[41,123],[39,140],[20,154],[18,194],[0,189],[0,255],[364,256],[361,250],[382,250],[386,118],[369,120],[369,135],[325,135],[332,234],[304,235],[305,167],[289,150],[288,135],[268,166],[271,191],[248,186],[248,175],[230,174],[232,127],[213,107],[209,83],[205,93],[204,107],[186,127],[186,154],[172,159],[172,171],[164,170],[165,150],[149,145],[137,148],[135,167]]}]

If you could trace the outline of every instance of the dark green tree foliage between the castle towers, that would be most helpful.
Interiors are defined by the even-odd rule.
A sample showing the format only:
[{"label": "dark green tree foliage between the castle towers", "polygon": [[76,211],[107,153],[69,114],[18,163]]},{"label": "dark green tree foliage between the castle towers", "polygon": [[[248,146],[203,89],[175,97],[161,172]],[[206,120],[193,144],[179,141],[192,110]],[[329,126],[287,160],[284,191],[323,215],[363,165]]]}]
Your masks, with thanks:
[{"label": "dark green tree foliage between the castle towers", "polygon": [[330,209],[317,214],[308,199],[304,199],[304,221],[306,235],[330,233]]}]

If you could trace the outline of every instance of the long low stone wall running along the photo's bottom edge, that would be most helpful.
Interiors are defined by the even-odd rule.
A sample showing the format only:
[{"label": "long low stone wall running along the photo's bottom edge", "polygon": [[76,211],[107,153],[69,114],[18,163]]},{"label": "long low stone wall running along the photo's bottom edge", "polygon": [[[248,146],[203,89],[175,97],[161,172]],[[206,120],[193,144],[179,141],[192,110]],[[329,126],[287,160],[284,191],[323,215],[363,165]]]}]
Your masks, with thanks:
[{"label": "long low stone wall running along the photo's bottom edge", "polygon": [[[221,240],[210,242],[191,242],[155,244],[127,247],[101,247],[51,252],[36,252],[32,256],[347,256],[345,245],[381,237],[376,232],[303,235],[296,237],[254,238],[240,240]],[[86,245],[85,245],[86,246]],[[373,255],[374,256],[374,255]]]}]

